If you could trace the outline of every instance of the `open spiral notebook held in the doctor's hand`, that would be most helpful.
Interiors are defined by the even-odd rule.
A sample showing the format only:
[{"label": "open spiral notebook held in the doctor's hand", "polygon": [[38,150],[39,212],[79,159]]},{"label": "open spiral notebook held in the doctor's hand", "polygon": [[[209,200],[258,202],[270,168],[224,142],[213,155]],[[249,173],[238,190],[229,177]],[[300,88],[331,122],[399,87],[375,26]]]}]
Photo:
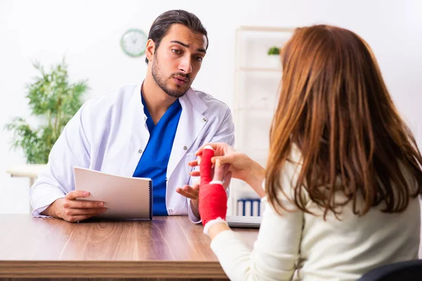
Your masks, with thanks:
[{"label": "open spiral notebook held in the doctor's hand", "polygon": [[101,171],[75,167],[76,190],[89,192],[78,200],[104,202],[106,212],[95,218],[122,220],[153,219],[151,178],[115,176]]}]

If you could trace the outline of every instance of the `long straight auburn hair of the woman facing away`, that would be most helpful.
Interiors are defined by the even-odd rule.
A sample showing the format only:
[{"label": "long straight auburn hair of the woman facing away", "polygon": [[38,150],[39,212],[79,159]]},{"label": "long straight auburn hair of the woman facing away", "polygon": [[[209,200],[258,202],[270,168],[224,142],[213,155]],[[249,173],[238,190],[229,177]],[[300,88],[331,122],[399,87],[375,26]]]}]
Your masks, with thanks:
[{"label": "long straight auburn hair of the woman facing away", "polygon": [[[324,218],[328,211],[337,216],[351,200],[359,216],[382,202],[384,212],[404,211],[422,191],[421,153],[368,44],[343,28],[302,27],[281,49],[281,61],[265,181],[270,204],[289,211],[278,194],[283,165],[296,145],[302,158],[290,200],[302,211],[313,214],[305,192]],[[346,201],[336,200],[338,192]]]}]

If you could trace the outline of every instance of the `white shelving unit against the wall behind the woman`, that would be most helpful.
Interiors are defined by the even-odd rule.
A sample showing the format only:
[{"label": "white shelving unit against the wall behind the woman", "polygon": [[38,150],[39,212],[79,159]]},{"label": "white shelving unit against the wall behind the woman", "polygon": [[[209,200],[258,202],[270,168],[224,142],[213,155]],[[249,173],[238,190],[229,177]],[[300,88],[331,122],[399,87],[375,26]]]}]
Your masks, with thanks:
[{"label": "white shelving unit against the wall behind the woman", "polygon": [[[271,46],[283,46],[293,30],[294,28],[259,26],[242,26],[236,30],[233,108],[235,148],[245,152],[262,166],[267,162],[269,129],[281,81],[279,55],[267,55],[267,51]],[[238,212],[238,200],[242,198],[257,198],[257,195],[245,183],[233,180],[229,215],[243,215],[243,211],[241,214]],[[260,210],[262,214],[262,208]]]}]

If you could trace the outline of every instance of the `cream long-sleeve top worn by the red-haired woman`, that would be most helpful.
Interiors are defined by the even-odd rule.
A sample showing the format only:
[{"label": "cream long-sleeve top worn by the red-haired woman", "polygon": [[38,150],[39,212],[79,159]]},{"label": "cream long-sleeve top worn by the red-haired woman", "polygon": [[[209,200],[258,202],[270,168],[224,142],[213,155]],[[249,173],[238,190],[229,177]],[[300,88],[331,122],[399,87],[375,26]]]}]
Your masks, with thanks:
[{"label": "cream long-sleeve top worn by the red-haired woman", "polygon": [[[281,185],[292,195],[292,179],[298,164],[287,163]],[[343,209],[342,221],[332,214],[306,214],[279,195],[282,216],[262,198],[265,211],[253,249],[231,230],[211,242],[222,268],[231,280],[357,280],[372,268],[397,261],[418,259],[421,213],[418,198],[402,213],[386,214],[372,208],[364,216]],[[312,201],[307,207],[321,214]]]}]

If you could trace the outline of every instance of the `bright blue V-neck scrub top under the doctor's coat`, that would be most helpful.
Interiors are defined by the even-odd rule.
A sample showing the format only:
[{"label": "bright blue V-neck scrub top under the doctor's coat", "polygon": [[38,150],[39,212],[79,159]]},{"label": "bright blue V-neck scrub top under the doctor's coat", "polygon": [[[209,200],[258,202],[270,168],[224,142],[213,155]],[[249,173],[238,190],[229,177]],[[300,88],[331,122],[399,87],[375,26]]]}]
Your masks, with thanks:
[{"label": "bright blue V-neck scrub top under the doctor's coat", "polygon": [[179,100],[174,101],[162,115],[160,121],[154,124],[145,100],[143,100],[143,112],[147,117],[146,126],[150,132],[148,144],[138,166],[136,166],[134,177],[151,178],[153,181],[153,216],[168,216],[165,204],[165,191],[167,188],[167,166],[169,164],[170,152],[172,152],[174,136],[176,136],[177,125],[181,115]]}]

